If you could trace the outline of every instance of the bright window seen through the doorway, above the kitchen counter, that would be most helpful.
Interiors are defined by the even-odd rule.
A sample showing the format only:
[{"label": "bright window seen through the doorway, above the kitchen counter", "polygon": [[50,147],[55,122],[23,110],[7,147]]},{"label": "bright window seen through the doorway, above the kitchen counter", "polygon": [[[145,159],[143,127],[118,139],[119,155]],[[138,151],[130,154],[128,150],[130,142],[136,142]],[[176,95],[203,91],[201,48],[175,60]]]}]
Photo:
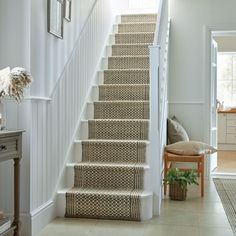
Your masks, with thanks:
[{"label": "bright window seen through the doorway, above the kitchen counter", "polygon": [[236,52],[218,53],[217,60],[217,99],[236,107]]}]

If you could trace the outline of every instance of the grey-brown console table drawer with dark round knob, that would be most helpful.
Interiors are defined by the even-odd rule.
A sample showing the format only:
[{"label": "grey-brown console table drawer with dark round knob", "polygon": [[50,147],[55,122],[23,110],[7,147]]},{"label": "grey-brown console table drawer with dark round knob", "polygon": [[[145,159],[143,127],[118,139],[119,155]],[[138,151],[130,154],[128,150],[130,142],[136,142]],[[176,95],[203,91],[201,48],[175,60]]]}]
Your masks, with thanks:
[{"label": "grey-brown console table drawer with dark round knob", "polygon": [[11,156],[18,153],[17,137],[9,137],[0,139],[0,158],[3,156]]}]

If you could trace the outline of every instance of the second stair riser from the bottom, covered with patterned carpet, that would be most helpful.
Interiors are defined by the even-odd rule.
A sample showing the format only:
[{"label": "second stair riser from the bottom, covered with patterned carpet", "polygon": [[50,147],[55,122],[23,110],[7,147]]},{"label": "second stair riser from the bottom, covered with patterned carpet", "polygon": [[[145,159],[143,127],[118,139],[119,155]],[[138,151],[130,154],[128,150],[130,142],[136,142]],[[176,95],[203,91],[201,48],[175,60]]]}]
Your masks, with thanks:
[{"label": "second stair riser from the bottom, covered with patterned carpet", "polygon": [[149,169],[76,166],[74,173],[75,187],[150,191]]}]

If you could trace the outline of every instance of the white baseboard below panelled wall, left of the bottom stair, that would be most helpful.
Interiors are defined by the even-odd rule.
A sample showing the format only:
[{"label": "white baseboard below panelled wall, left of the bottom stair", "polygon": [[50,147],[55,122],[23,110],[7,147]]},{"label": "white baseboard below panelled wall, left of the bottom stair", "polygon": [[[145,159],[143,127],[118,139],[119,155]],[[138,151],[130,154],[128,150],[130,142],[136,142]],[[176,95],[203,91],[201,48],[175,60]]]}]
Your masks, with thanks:
[{"label": "white baseboard below panelled wall, left of the bottom stair", "polygon": [[[37,235],[48,223],[55,217],[55,201],[50,200],[44,203],[31,213],[31,234],[30,236]],[[27,234],[22,234],[27,236]]]}]

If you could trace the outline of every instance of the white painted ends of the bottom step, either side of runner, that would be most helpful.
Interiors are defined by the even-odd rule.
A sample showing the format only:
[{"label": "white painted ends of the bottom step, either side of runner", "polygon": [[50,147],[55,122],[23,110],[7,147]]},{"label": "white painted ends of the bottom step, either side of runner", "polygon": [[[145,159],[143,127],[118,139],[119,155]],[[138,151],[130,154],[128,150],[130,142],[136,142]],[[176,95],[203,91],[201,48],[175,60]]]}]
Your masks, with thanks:
[{"label": "white painted ends of the bottom step, either side of runner", "polygon": [[[69,189],[69,188],[68,188]],[[68,189],[63,189],[57,192],[57,216],[64,217],[66,208],[66,192]],[[153,195],[151,192],[144,192],[141,196],[141,220],[152,219],[153,215]]]}]

